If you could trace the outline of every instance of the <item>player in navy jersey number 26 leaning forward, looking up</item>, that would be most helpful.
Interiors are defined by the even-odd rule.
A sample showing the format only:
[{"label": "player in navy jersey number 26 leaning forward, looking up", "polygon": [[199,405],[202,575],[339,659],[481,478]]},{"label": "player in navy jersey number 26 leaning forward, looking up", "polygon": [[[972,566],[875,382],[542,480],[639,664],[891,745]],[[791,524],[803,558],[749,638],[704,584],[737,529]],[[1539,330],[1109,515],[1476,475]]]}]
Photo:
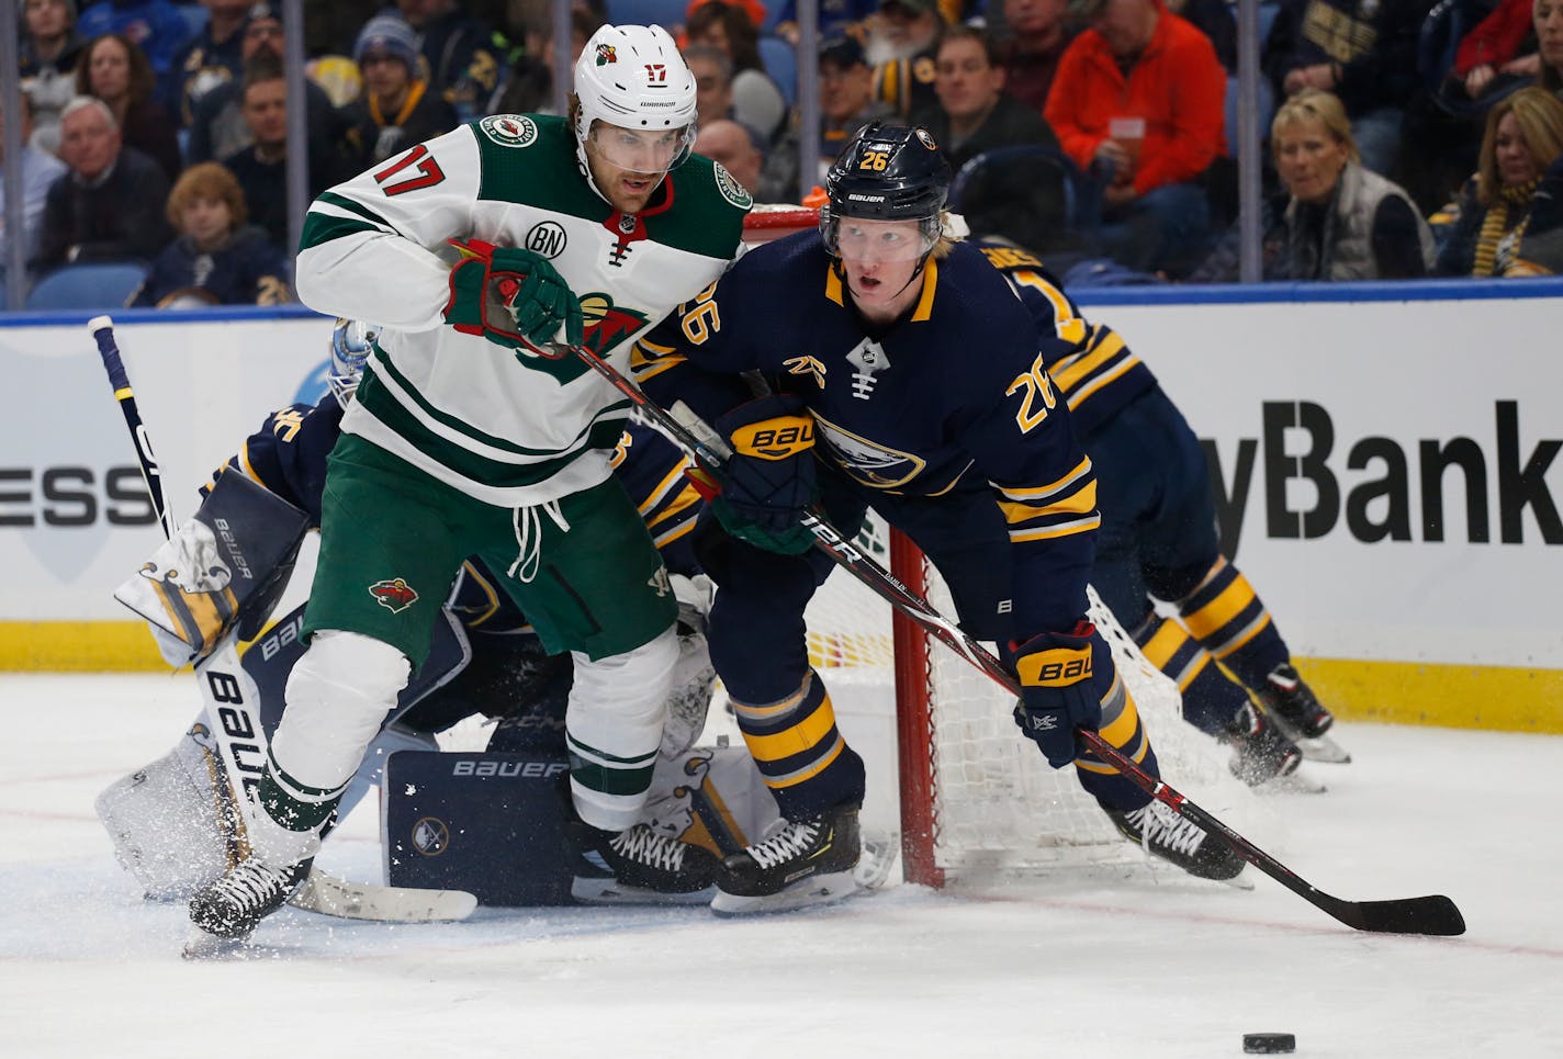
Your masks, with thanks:
[{"label": "player in navy jersey number 26 leaning forward, looking up", "polygon": [[1194,875],[1243,868],[1077,745],[1074,729],[1094,728],[1157,772],[1085,620],[1097,486],[1039,351],[1063,344],[1038,336],[980,251],[942,234],[949,183],[925,130],[864,128],[828,173],[817,233],[750,251],[641,342],[641,378],[664,400],[694,400],[697,383],[655,372],[685,358],[775,390],[716,419],[735,450],[713,503],[727,533],[700,559],[717,583],[711,658],[788,823],[724,861],[719,912],[830,900],[858,858],[863,761],[805,648],[803,609],[830,573],[799,526],[816,497],[849,534],[872,506],[922,548],[963,628],[1014,669],[1024,734],[1053,767],[1075,765],[1125,837]]}]

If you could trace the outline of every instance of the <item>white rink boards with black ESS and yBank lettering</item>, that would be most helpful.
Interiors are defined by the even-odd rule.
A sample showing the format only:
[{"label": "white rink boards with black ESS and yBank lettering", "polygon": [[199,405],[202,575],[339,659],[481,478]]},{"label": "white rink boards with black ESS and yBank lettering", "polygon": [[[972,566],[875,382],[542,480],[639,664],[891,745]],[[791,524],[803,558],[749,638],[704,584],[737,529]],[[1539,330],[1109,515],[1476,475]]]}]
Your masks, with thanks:
[{"label": "white rink boards with black ESS and yBank lettering", "polygon": [[[1316,658],[1563,669],[1557,298],[1086,308],[1205,440],[1229,551]],[[178,517],[266,412],[324,392],[330,322],[119,344]],[[117,620],[159,537],[81,325],[0,328],[0,622]]]}]

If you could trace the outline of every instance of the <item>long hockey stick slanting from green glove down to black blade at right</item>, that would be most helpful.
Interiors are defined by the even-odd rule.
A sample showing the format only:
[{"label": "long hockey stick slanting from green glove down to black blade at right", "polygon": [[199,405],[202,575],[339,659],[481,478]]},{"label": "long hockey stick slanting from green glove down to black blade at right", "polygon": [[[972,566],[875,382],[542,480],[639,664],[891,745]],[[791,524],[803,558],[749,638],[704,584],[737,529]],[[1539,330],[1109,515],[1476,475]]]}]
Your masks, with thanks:
[{"label": "long hockey stick slanting from green glove down to black blade at right", "polygon": [[[641,390],[631,380],[625,378],[616,367],[603,358],[583,347],[560,347],[552,350],[536,350],[544,356],[563,356],[566,351],[575,353],[586,361],[599,375],[614,384],[628,397],[642,415],[650,419],[660,430],[677,440],[688,451],[700,470],[708,476],[714,475],[727,461],[730,450],[708,425],[692,414],[674,415],[661,408]],[[675,406],[677,409],[678,406]],[[683,409],[688,412],[688,409]],[[697,436],[699,433],[699,436]],[[928,636],[939,640],[967,662],[986,673],[1011,695],[1021,695],[1021,686],[1014,676],[994,658],[994,654],[978,640],[967,636],[960,626],[939,614],[921,595],[908,589],[885,567],[852,545],[835,526],[817,511],[803,514],[803,526],[814,534],[814,547],[836,561],[852,576],[867,586],[875,595],[886,600],[897,611],[911,619]],[[1388,901],[1346,901],[1332,897],[1304,879],[1291,868],[1260,850],[1241,834],[1229,828],[1213,814],[1207,812],[1174,787],[1152,776],[1132,758],[1121,753],[1100,733],[1089,728],[1077,728],[1075,736],[1102,761],[1122,773],[1130,783],[1163,803],[1174,812],[1193,820],[1207,834],[1225,842],[1233,853],[1271,876],[1293,893],[1299,895],[1314,907],[1333,915],[1336,920],[1358,931],[1377,934],[1432,934],[1457,936],[1465,932],[1465,917],[1452,900],[1438,893],[1427,897],[1394,898]]]}]

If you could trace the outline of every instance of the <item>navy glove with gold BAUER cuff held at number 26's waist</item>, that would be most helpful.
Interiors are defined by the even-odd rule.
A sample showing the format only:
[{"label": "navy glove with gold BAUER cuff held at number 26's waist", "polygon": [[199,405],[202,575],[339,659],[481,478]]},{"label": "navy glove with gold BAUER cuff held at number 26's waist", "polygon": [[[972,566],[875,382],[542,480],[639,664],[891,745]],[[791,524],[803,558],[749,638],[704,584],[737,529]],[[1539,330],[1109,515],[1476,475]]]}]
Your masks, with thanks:
[{"label": "navy glove with gold BAUER cuff held at number 26's waist", "polygon": [[716,430],[733,447],[711,501],[722,528],[766,551],[808,551],[814,534],[800,520],[814,501],[814,420],[803,398],[761,397],[722,415]]}]

